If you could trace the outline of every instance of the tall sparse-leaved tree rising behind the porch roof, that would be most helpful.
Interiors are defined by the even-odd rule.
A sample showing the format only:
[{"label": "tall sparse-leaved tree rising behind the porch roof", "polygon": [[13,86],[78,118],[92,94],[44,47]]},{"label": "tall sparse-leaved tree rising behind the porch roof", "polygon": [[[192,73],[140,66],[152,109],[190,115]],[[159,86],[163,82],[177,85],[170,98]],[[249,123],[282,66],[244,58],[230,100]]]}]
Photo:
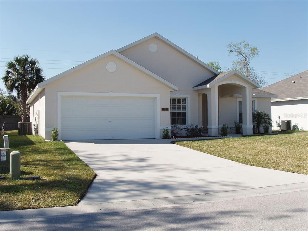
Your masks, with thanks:
[{"label": "tall sparse-leaved tree rising behind the porch roof", "polygon": [[261,87],[267,84],[265,79],[254,72],[254,69],[251,66],[251,60],[259,56],[259,48],[249,45],[245,40],[239,43],[229,43],[227,48],[229,55],[232,53],[238,57],[237,60],[232,62],[232,69],[236,69],[243,75],[246,75],[249,79],[259,83]]}]

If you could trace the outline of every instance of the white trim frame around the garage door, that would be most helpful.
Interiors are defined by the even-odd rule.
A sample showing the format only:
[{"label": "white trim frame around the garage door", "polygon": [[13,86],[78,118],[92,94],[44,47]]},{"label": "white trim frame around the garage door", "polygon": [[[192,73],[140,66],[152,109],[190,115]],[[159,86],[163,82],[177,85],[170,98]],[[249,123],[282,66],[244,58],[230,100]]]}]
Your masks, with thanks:
[{"label": "white trim frame around the garage door", "polygon": [[58,140],[61,140],[61,96],[128,96],[128,97],[153,97],[155,103],[155,138],[160,138],[160,94],[134,94],[134,93],[113,93],[113,92],[60,92],[57,99],[57,125],[59,130]]}]

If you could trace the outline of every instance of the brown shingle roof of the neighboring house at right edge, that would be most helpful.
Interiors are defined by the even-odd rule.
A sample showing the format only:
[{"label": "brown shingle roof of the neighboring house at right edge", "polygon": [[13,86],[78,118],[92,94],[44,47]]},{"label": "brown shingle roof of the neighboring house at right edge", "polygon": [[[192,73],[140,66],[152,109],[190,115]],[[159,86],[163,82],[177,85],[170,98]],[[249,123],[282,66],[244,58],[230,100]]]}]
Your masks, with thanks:
[{"label": "brown shingle roof of the neighboring house at right edge", "polygon": [[308,70],[261,89],[278,95],[275,101],[308,98]]}]

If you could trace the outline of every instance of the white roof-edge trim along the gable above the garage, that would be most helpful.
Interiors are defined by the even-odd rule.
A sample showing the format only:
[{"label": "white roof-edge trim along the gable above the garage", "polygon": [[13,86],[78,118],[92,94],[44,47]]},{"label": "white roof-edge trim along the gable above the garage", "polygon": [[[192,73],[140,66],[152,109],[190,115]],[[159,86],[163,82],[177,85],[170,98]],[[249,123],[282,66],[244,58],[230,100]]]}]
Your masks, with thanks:
[{"label": "white roof-edge trim along the gable above the garage", "polygon": [[107,57],[109,55],[114,55],[115,57],[121,59],[125,63],[130,64],[131,66],[135,67],[139,71],[144,72],[145,74],[151,76],[152,78],[156,79],[157,81],[163,83],[167,87],[170,87],[170,89],[172,89],[173,91],[177,91],[178,90],[178,88],[175,85],[173,85],[172,83],[168,82],[167,80],[159,77],[158,75],[154,74],[153,72],[149,71],[148,69],[140,66],[139,64],[137,64],[134,61],[128,59],[124,55],[121,55],[120,53],[118,53],[118,52],[116,52],[114,50],[111,50],[111,51],[108,51],[108,52],[106,52],[106,53],[104,53],[102,55],[99,55],[99,56],[97,56],[97,57],[95,57],[93,59],[90,59],[90,60],[88,60],[88,61],[86,61],[84,63],[81,63],[81,64],[77,65],[76,67],[73,67],[73,68],[71,68],[71,69],[69,69],[67,71],[64,71],[64,72],[60,73],[59,75],[55,75],[55,76],[53,76],[53,77],[51,77],[49,79],[46,79],[45,81],[39,83],[38,85],[36,85],[34,90],[31,92],[29,98],[27,99],[27,103],[31,103],[32,100],[35,99],[35,97],[37,95],[39,95],[39,93],[45,88],[46,84],[51,83],[51,82],[53,82],[53,81],[55,81],[57,79],[60,79],[60,78],[66,76],[68,74],[71,74],[72,72],[77,71],[77,70],[79,70],[79,69],[81,69],[81,68],[83,68],[83,67],[85,67],[87,65],[90,65],[91,63],[94,63],[94,62],[96,62],[96,61],[98,61],[100,59],[103,59],[103,58],[105,58],[105,57]]}]

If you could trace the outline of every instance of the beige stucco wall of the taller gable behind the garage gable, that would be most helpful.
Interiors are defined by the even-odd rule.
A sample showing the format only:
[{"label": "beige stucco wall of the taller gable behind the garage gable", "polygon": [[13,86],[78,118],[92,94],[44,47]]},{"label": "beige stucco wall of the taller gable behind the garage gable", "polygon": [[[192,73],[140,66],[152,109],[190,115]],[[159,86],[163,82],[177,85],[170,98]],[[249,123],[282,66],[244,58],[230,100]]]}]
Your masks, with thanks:
[{"label": "beige stucco wall of the taller gable behind the garage gable", "polygon": [[[149,50],[152,43],[158,47],[154,53]],[[202,125],[198,115],[198,92],[193,91],[193,87],[212,77],[212,72],[156,38],[148,39],[120,54],[176,85],[179,90],[171,92],[171,95],[189,95],[188,124]]]}]

